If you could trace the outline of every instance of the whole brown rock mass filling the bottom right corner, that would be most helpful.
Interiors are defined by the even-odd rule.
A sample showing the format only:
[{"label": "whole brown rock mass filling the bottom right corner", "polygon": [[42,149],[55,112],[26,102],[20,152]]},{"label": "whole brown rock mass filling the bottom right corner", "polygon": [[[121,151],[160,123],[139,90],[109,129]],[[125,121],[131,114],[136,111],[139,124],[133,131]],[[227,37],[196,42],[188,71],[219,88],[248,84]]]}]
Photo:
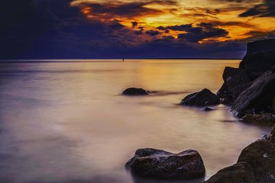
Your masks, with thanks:
[{"label": "whole brown rock mass filling the bottom right corner", "polygon": [[275,182],[275,146],[258,140],[245,147],[236,164],[218,171],[206,182]]}]

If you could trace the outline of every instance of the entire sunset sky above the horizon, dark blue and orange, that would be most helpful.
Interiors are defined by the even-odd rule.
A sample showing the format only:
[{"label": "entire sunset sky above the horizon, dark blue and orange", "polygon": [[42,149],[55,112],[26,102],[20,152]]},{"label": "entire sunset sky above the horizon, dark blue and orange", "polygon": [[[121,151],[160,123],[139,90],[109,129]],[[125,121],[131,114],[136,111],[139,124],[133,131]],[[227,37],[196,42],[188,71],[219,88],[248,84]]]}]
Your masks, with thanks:
[{"label": "entire sunset sky above the horizon, dark blue and orange", "polygon": [[274,0],[3,0],[0,59],[242,58]]}]

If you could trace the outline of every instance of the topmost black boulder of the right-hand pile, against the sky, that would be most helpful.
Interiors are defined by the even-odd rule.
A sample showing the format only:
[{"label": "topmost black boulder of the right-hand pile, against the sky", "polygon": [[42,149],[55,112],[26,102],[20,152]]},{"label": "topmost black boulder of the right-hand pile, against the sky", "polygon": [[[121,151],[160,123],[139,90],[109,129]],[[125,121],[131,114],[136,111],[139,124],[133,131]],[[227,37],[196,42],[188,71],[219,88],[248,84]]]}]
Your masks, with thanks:
[{"label": "topmost black boulder of the right-hand pile, against the sky", "polygon": [[256,40],[248,43],[248,50],[239,68],[245,69],[252,79],[275,65],[275,40]]}]

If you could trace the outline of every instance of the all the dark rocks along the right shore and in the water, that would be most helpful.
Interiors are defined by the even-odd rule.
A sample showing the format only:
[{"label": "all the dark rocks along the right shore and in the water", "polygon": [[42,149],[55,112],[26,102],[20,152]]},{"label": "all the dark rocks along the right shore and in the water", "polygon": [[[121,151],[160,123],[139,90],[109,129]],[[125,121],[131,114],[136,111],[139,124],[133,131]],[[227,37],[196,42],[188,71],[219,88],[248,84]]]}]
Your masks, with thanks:
[{"label": "all the dark rocks along the right shore and in the water", "polygon": [[[127,88],[122,95],[149,95],[142,88]],[[275,124],[275,40],[248,43],[239,68],[226,66],[223,85],[212,93],[207,88],[181,100],[181,106],[204,107],[223,103],[245,123]],[[188,180],[201,178],[206,169],[199,153],[189,149],[173,154],[159,149],[137,149],[125,165],[131,173],[144,178]],[[236,164],[221,169],[206,183],[275,182],[275,125],[267,139],[245,147]]]}]

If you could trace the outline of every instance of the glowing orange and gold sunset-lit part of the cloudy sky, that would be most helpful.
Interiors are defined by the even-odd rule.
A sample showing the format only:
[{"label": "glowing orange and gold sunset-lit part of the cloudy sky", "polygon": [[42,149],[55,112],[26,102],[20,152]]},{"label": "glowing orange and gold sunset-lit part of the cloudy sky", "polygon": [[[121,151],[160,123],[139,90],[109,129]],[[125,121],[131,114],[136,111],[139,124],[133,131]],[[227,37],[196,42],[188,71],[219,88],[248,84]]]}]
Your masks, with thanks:
[{"label": "glowing orange and gold sunset-lit part of the cloudy sky", "polygon": [[71,5],[78,6],[87,19],[115,21],[135,35],[136,42],[243,40],[264,38],[275,29],[270,10],[274,2],[268,0],[75,0]]}]

